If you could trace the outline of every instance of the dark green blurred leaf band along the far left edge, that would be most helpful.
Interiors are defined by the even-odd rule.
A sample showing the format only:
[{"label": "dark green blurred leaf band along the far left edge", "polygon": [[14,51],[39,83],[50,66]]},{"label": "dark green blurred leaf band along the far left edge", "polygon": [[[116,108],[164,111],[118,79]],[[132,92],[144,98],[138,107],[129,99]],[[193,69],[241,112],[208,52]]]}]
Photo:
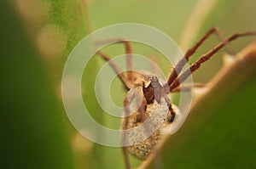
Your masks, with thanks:
[{"label": "dark green blurred leaf band along the far left edge", "polygon": [[39,54],[10,3],[3,1],[0,11],[0,167],[73,168],[61,107]]}]

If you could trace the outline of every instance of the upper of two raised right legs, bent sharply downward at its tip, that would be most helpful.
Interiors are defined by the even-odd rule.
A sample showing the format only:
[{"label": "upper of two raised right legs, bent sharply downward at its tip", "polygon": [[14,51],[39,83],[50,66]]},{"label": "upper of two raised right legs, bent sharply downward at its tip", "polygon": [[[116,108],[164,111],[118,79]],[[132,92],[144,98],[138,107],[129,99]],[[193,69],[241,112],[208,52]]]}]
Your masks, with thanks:
[{"label": "upper of two raised right legs, bent sharply downward at its tip", "polygon": [[[213,33],[215,35],[217,35],[217,37],[219,38],[219,40],[221,42],[224,42],[224,38],[221,35],[220,31],[218,31],[218,29],[216,27],[212,27],[209,31],[207,31],[207,33],[203,37],[201,37],[201,39],[198,42],[195,43],[194,47],[189,48],[189,50],[183,56],[183,59],[181,59],[177,62],[175,69],[172,70],[171,75],[168,77],[168,81],[167,81],[168,86],[170,86],[172,84],[172,82],[177,78],[177,76],[183,70],[184,65],[186,65],[186,63],[189,61],[190,56],[195,54],[195,51],[197,50],[197,48],[199,48],[201,46],[201,44],[203,42],[205,42],[207,40],[207,38],[210,37]],[[226,45],[226,43],[227,42],[224,42],[225,45]],[[227,51],[230,52],[230,49],[227,48]]]}]

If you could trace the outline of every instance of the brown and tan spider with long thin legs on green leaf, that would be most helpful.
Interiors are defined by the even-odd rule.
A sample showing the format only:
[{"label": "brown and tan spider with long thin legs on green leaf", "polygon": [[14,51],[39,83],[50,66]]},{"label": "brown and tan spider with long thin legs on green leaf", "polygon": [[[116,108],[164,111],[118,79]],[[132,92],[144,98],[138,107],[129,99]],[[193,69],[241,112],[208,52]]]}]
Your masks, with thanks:
[{"label": "brown and tan spider with long thin legs on green leaf", "polygon": [[[183,67],[189,61],[189,58],[195,54],[197,48],[199,48],[201,44],[205,42],[205,40],[212,34],[217,35],[221,42],[209,50],[207,54],[201,55],[194,64],[189,66],[189,68],[183,70]],[[148,155],[155,151],[156,145],[160,142],[163,135],[163,128],[165,126],[172,125],[172,123],[177,120],[179,110],[174,104],[172,104],[168,95],[174,92],[190,90],[193,86],[203,86],[196,83],[188,86],[183,84],[183,82],[191,74],[193,74],[195,70],[199,70],[203,63],[207,62],[208,59],[211,59],[214,54],[217,54],[221,48],[224,48],[227,43],[234,41],[238,37],[255,35],[256,32],[236,33],[224,40],[221,37],[218,29],[212,27],[203,35],[203,37],[201,37],[201,39],[199,39],[198,42],[195,43],[192,48],[189,48],[189,50],[184,54],[183,58],[177,62],[175,69],[172,70],[166,82],[163,82],[160,77],[152,73],[132,71],[131,42],[126,41],[125,39],[119,39],[117,42],[124,43],[125,45],[127,66],[126,73],[119,73],[119,66],[116,65],[113,60],[111,60],[108,54],[104,54],[102,51],[97,52],[102,59],[108,61],[108,64],[113,68],[127,91],[124,101],[125,118],[121,122],[121,128],[123,130],[128,130],[133,127],[142,126],[143,122],[147,121],[148,119],[153,120],[150,121],[151,123],[140,127],[141,130],[133,133],[133,135],[129,134],[129,132],[122,135],[121,142],[123,144],[130,143],[129,146],[122,147],[126,169],[131,168],[127,152],[140,160],[147,159]],[[137,104],[137,110],[135,112],[130,112],[131,103],[134,102],[133,100],[139,103]],[[161,127],[152,132],[152,130],[150,130],[152,123],[160,124]],[[144,132],[146,132],[146,134]],[[143,137],[142,135],[147,135],[147,137],[142,140],[135,141],[137,138]]]}]

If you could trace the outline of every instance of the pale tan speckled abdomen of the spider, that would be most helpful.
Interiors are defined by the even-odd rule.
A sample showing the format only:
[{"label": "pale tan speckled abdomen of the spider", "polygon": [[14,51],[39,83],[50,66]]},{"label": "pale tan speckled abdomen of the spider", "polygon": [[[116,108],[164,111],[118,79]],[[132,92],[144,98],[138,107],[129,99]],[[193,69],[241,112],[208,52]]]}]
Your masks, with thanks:
[{"label": "pale tan speckled abdomen of the spider", "polygon": [[[141,90],[141,87],[137,87],[137,89],[129,91],[127,95],[128,97],[133,95],[135,96],[133,99],[140,100],[136,97],[139,97],[138,95],[142,92]],[[154,99],[153,103],[147,104],[144,112],[133,111],[137,102],[132,102],[134,101],[132,99],[130,101],[129,110],[131,110],[131,115],[122,121],[122,129],[137,128],[137,130],[134,130],[135,132],[128,132],[126,139],[128,143],[132,144],[125,148],[137,159],[145,160],[149,154],[154,152],[156,145],[165,134],[162,129],[171,124],[171,112],[164,98],[160,99],[160,103]],[[143,120],[142,113],[144,116]]]}]

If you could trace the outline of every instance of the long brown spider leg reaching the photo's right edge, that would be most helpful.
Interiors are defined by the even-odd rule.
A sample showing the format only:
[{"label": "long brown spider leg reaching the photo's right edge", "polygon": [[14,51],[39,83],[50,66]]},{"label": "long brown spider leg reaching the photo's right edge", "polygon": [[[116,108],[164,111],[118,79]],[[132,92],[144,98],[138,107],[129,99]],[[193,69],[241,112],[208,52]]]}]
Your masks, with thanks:
[{"label": "long brown spider leg reaching the photo's right edge", "polygon": [[221,48],[224,48],[225,44],[228,42],[234,41],[238,37],[247,37],[247,36],[256,36],[255,32],[246,32],[246,33],[236,33],[231,37],[227,38],[224,42],[220,42],[217,46],[212,48],[207,54],[201,55],[200,59],[198,59],[195,64],[190,65],[188,69],[184,70],[182,74],[177,76],[177,78],[170,84],[169,89],[172,92],[176,87],[178,87],[182,82],[184,82],[195,70],[198,70],[204,62],[212,57],[213,54],[218,53]]}]

